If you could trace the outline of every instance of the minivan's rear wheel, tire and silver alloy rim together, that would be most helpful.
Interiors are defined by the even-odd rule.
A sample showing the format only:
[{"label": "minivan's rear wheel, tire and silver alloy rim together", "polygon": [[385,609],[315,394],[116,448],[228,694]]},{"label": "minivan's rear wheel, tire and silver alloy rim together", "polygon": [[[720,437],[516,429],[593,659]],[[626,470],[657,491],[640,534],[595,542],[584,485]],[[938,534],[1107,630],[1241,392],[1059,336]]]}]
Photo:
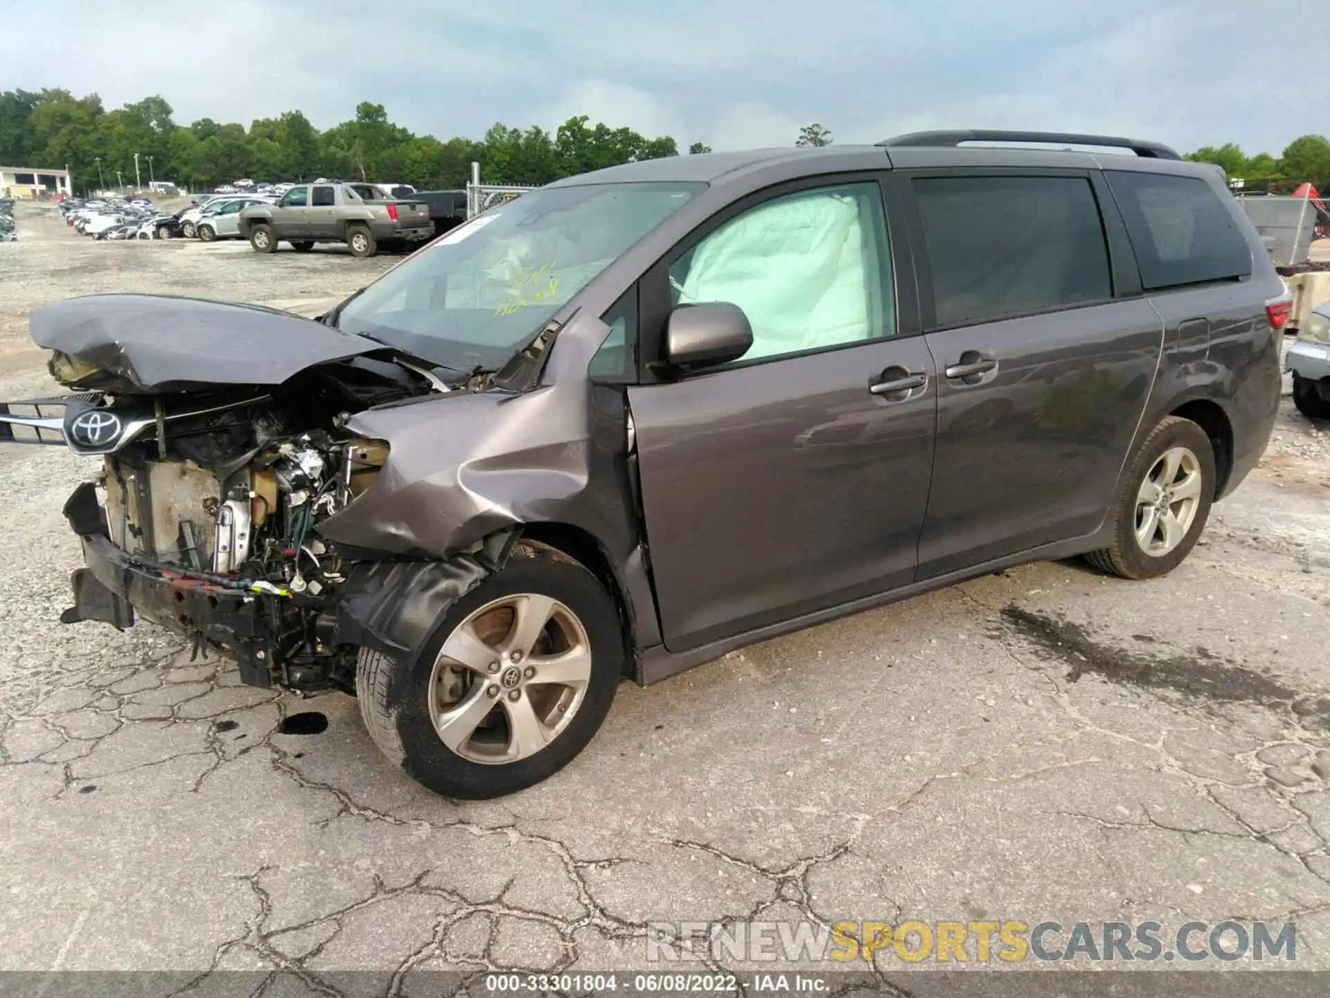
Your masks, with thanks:
[{"label": "minivan's rear wheel, tire and silver alloy rim together", "polygon": [[[1145,495],[1146,476],[1152,483],[1162,482],[1169,471],[1169,456],[1178,458],[1177,471],[1166,483],[1166,492],[1152,504]],[[1214,502],[1216,482],[1214,448],[1205,430],[1190,419],[1165,418],[1136,451],[1119,486],[1109,511],[1113,518],[1111,546],[1085,555],[1085,560],[1100,571],[1124,579],[1157,579],[1168,575],[1192,552],[1205,530]],[[1194,502],[1189,504],[1189,500]],[[1172,536],[1166,530],[1165,516],[1172,516]],[[1157,526],[1150,530],[1150,524]],[[1138,532],[1144,531],[1150,531],[1150,550],[1138,539]]]}]

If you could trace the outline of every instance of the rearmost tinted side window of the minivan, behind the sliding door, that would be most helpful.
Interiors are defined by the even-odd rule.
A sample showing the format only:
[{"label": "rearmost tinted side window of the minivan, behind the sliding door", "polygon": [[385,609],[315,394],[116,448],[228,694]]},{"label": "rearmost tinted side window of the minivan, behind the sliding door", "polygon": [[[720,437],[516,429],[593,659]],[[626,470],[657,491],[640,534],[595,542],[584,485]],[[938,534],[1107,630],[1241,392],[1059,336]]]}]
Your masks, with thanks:
[{"label": "rearmost tinted side window of the minivan, behind the sliding door", "polygon": [[1252,249],[1200,177],[1105,170],[1148,291],[1252,273]]}]

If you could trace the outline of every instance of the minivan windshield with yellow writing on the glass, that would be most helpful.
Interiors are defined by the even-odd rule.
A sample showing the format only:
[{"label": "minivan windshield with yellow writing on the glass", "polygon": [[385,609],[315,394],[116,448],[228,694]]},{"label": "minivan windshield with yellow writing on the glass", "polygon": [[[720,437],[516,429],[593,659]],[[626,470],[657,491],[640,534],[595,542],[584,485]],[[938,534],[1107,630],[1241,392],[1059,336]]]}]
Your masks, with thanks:
[{"label": "minivan windshield with yellow writing on the glass", "polygon": [[458,371],[497,370],[616,257],[702,184],[545,188],[462,225],[334,314]]}]

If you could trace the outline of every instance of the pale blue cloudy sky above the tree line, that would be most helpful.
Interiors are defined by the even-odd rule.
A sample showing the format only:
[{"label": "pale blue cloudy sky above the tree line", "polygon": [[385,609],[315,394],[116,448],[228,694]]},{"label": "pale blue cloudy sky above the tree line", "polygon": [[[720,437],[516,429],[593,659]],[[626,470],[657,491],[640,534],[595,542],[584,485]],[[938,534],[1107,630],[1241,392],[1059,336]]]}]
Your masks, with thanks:
[{"label": "pale blue cloudy sky above the tree line", "polygon": [[[636,9],[634,9],[636,8]],[[0,0],[0,89],[176,120],[355,104],[442,138],[573,114],[716,149],[922,128],[1278,153],[1330,84],[1326,0]]]}]

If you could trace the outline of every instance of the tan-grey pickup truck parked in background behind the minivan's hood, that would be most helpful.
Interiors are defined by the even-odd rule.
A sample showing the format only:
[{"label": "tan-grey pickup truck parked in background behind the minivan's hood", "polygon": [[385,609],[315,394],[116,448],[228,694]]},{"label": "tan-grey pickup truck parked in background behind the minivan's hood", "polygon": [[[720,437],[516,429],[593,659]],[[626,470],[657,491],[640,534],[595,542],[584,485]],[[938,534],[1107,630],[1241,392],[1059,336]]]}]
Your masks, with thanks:
[{"label": "tan-grey pickup truck parked in background behind the minivan's hood", "polygon": [[356,257],[434,236],[428,205],[384,197],[372,184],[302,184],[275,205],[246,208],[239,229],[258,253],[271,253],[278,242],[302,251],[315,242],[344,242]]}]

